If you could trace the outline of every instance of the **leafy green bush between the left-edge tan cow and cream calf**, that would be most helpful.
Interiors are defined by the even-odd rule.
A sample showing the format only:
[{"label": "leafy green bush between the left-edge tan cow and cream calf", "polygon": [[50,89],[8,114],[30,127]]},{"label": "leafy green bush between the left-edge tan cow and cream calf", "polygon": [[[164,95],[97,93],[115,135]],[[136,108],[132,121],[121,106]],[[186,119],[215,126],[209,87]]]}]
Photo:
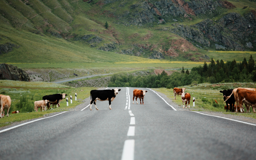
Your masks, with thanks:
[{"label": "leafy green bush between the left-edge tan cow and cream calf", "polygon": [[28,97],[21,96],[20,101],[16,103],[16,107],[20,112],[32,112],[34,110],[34,103],[28,101]]}]

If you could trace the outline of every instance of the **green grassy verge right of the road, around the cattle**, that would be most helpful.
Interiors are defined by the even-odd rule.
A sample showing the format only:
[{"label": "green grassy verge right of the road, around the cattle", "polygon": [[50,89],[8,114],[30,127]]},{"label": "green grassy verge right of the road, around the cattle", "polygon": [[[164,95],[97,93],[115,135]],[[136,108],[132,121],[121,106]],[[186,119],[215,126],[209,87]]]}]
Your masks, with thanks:
[{"label": "green grassy verge right of the road, around the cattle", "polygon": [[[243,85],[242,85],[243,84]],[[247,84],[249,86],[250,83]],[[228,84],[199,84],[197,86],[181,86],[179,88],[185,87],[186,93],[190,93],[191,102],[190,109],[192,111],[214,111],[214,112],[222,112],[223,114],[232,114],[236,116],[246,116],[256,119],[256,114],[252,112],[252,108],[250,108],[250,113],[232,113],[226,112],[223,100],[223,94],[220,93],[220,90],[224,90],[227,88],[237,88],[238,86],[244,87],[246,84],[244,83],[228,83]],[[252,84],[251,84],[252,85]],[[254,84],[253,84],[254,85]],[[253,86],[250,86],[253,87]],[[205,88],[205,89],[204,89]],[[176,95],[177,100],[173,100],[173,89],[167,88],[154,88],[155,91],[164,93],[169,99],[174,101],[176,104],[181,105],[182,100],[180,96]],[[195,97],[195,107],[193,107],[193,97]],[[215,103],[216,100],[218,104]],[[245,106],[244,106],[245,107]],[[246,111],[246,108],[244,108]]]}]

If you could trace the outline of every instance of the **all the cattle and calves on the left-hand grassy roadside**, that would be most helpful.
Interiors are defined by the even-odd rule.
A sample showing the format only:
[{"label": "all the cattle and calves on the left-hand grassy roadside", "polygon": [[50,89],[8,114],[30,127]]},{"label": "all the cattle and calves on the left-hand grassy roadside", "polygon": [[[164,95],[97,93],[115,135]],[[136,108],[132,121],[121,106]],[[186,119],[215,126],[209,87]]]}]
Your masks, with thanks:
[{"label": "all the cattle and calves on the left-hand grassy roadside", "polygon": [[[43,97],[43,100],[38,100],[38,101],[35,101],[34,102],[34,110],[36,110],[36,112],[38,111],[38,108],[41,108],[41,111],[42,111],[42,108],[43,108],[43,111],[46,110],[46,106],[47,106],[47,109],[51,108],[51,104],[52,104],[52,108],[53,108],[53,105],[56,106],[57,104],[57,107],[60,107],[60,101],[62,99],[65,99],[65,96],[67,96],[67,94],[65,93],[62,93],[62,94],[52,94],[52,95],[46,95]],[[9,109],[11,107],[11,97],[10,96],[5,96],[5,95],[2,95],[0,94],[0,118],[4,117],[5,114],[4,114],[4,111],[5,109],[7,109],[7,114],[6,116],[8,117],[9,116]],[[3,114],[2,114],[3,112]],[[20,111],[14,111],[12,112],[12,114],[14,113],[19,113]]]}]

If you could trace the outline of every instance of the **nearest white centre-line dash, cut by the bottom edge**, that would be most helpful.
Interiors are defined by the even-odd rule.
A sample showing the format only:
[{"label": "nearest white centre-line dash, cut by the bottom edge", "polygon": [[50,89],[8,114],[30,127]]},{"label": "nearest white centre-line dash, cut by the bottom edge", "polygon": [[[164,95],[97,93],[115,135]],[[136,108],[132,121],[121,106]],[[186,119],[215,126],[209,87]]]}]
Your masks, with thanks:
[{"label": "nearest white centre-line dash, cut by the bottom edge", "polygon": [[134,160],[135,140],[125,140],[121,160]]}]

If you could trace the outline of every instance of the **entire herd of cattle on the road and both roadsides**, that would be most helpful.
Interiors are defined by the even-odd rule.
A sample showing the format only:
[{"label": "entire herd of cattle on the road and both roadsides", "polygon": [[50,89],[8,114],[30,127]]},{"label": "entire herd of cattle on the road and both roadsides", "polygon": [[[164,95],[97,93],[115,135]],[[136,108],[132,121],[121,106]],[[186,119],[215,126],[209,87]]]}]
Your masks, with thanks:
[{"label": "entire herd of cattle on the road and both roadsides", "polygon": [[[184,103],[185,106],[187,108],[190,108],[189,103],[190,103],[190,94],[189,93],[185,93],[186,88],[173,88],[173,94],[174,94],[174,100],[176,100],[176,95],[181,95],[181,100],[183,103],[183,108],[184,108]],[[99,110],[96,107],[96,100],[100,100],[100,101],[105,101],[108,100],[109,103],[109,109],[111,108],[111,102],[116,98],[116,95],[118,94],[118,91],[121,91],[121,89],[112,89],[112,90],[92,90],[90,92],[91,94],[91,102],[90,102],[90,110],[92,110],[92,103],[94,104],[95,108],[97,110]],[[226,108],[228,111],[228,107],[230,106],[230,111],[234,112],[234,110],[236,109],[236,112],[238,112],[238,110],[240,110],[241,113],[244,112],[244,108],[243,108],[243,104],[245,104],[246,106],[246,112],[250,112],[250,106],[252,106],[253,112],[255,112],[255,108],[256,108],[256,89],[255,88],[235,88],[233,89],[229,89],[229,90],[223,90],[220,91],[221,93],[223,93],[223,99],[226,102]],[[141,99],[142,99],[142,104],[144,104],[144,96],[146,94],[146,90],[138,90],[138,89],[134,89],[133,90],[133,99],[132,99],[132,104],[134,104],[134,97],[136,99],[136,103],[138,104],[137,98],[140,98],[140,104],[141,104]],[[51,104],[52,104],[52,108],[53,105],[57,105],[57,108],[60,107],[60,101],[62,99],[65,99],[65,96],[67,96],[67,94],[62,93],[62,94],[52,94],[52,95],[46,95],[43,97],[43,100],[38,100],[34,102],[34,110],[36,110],[36,112],[38,111],[38,108],[41,108],[41,111],[43,109],[46,110],[51,108]],[[217,102],[217,101],[216,101]],[[235,105],[236,102],[236,105]],[[4,111],[5,109],[7,109],[7,117],[9,116],[9,109],[11,107],[11,98],[10,96],[5,96],[0,94],[0,118],[4,117]],[[20,111],[14,111],[12,113],[19,113]],[[2,114],[3,113],[3,114]]]}]

